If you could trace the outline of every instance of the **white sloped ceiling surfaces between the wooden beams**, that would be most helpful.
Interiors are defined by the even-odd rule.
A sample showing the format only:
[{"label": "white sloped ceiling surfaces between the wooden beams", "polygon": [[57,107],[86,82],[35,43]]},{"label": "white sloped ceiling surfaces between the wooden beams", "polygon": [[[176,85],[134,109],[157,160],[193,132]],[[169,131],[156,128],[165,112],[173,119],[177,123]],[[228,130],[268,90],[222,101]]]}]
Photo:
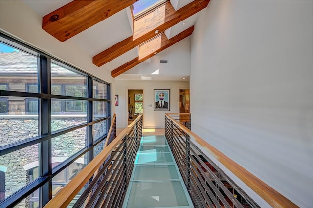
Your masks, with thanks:
[{"label": "white sloped ceiling surfaces between the wooden beams", "polygon": [[[47,14],[51,15],[50,13],[58,10],[61,7],[64,8],[63,6],[67,6],[67,4],[70,2],[71,1],[68,0],[25,0],[25,3],[27,3],[41,17],[45,17]],[[177,11],[186,5],[190,6],[192,2],[193,2],[192,0],[171,0],[170,3],[173,6],[173,8]],[[75,16],[74,13],[72,13],[72,15]],[[193,26],[195,24],[197,16],[198,12],[195,13],[194,15],[190,15],[190,17],[176,23],[172,27],[165,30],[164,34],[166,35],[167,39],[171,40],[171,38],[179,35],[186,29]],[[109,16],[108,18],[99,21],[98,23],[90,26],[89,28],[83,30],[82,32],[79,32],[73,37],[68,38],[64,42],[72,42],[77,44],[79,47],[84,49],[92,58],[97,54],[101,53],[102,51],[105,51],[106,49],[114,46],[115,44],[118,44],[119,42],[122,42],[125,39],[130,39],[134,31],[133,22],[134,20],[131,6],[126,6],[124,9],[121,9],[120,11],[114,13],[112,16]],[[136,63],[135,65],[137,66],[135,66],[134,69],[131,69],[128,72],[124,72],[123,74],[117,76],[116,79],[138,80],[141,78],[141,76],[148,76],[153,77],[153,80],[183,80],[183,78],[184,80],[188,80],[190,69],[189,72],[184,71],[183,73],[181,73],[181,71],[177,69],[175,70],[176,67],[173,65],[168,66],[166,70],[159,70],[158,73],[153,75],[151,75],[151,70],[147,70],[147,72],[143,70],[143,68],[152,68],[152,69],[159,68],[158,66],[159,59],[166,58],[162,56],[162,53],[164,55],[166,54],[167,56],[167,54],[169,53],[179,54],[179,51],[182,51],[183,48],[184,48],[183,50],[186,51],[186,45],[188,44],[190,45],[190,38],[188,39],[186,38],[186,40],[183,41],[184,42],[182,43],[176,43],[170,46],[168,49],[164,51],[160,52],[156,51],[159,53],[150,54],[149,57],[147,57],[149,58],[148,60],[140,63],[138,62],[139,64]],[[189,48],[187,47],[187,50],[189,50],[190,53],[190,47]],[[104,65],[105,68],[107,68],[110,71],[113,71],[122,66],[123,64],[128,64],[132,60],[136,59],[136,57],[138,56],[139,56],[139,47],[137,46],[134,48],[130,48],[125,53],[121,53],[118,57],[114,58],[109,62],[106,62]],[[174,57],[172,56],[171,58],[179,60],[179,56]],[[173,63],[176,61],[172,60],[171,62]],[[171,67],[173,68],[172,72],[170,72]]]}]

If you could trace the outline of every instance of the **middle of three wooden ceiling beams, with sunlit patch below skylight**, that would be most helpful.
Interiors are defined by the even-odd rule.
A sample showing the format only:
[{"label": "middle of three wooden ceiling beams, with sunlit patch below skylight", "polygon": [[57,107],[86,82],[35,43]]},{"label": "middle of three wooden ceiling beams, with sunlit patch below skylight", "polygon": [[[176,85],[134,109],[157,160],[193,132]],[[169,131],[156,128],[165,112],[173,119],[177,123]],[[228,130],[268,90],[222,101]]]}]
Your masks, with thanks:
[{"label": "middle of three wooden ceiling beams, with sunlit patch below skylight", "polygon": [[[136,31],[135,31],[136,21],[140,21],[141,18],[139,20],[135,20],[134,22],[134,34],[135,35],[121,42],[118,42],[112,47],[95,55],[93,57],[93,64],[100,67],[112,61],[113,59],[119,57],[120,55],[126,53],[127,51],[133,49],[134,47],[146,41],[149,41],[151,38],[155,37],[156,30],[158,30],[158,33],[164,32],[166,29],[174,26],[180,21],[183,21],[187,19],[188,17],[196,14],[197,12],[201,11],[202,9],[206,8],[208,3],[209,3],[209,0],[195,0],[187,4],[186,6],[182,7],[178,11],[175,11],[170,1],[167,1],[164,5],[162,5],[162,7],[165,6],[165,8],[164,8],[164,17],[163,17],[163,21],[161,22],[161,24],[157,25],[154,28],[149,27],[150,30],[145,31],[145,34],[140,35],[142,34],[142,32],[140,32],[140,34],[138,35],[137,31],[143,30],[143,28],[141,28],[140,25],[144,25],[144,24],[139,24],[138,27],[136,27]],[[158,7],[157,9],[162,10],[161,7]]]}]

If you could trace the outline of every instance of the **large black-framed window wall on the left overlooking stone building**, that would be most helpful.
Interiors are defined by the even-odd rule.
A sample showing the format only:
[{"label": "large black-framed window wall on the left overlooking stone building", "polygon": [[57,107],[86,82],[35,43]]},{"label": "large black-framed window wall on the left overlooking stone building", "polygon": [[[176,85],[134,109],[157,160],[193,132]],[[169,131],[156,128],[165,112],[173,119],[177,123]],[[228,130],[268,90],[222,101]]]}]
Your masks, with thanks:
[{"label": "large black-framed window wall on the left overlooking stone building", "polygon": [[110,84],[4,34],[0,48],[0,207],[43,207],[103,149]]}]

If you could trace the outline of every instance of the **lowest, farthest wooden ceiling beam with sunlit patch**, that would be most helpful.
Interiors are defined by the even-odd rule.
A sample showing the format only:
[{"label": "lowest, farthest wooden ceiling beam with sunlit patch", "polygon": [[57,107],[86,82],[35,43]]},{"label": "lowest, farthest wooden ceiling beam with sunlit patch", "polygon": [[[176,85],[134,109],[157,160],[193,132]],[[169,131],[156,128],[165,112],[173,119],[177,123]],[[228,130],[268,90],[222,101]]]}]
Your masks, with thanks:
[{"label": "lowest, farthest wooden ceiling beam with sunlit patch", "polygon": [[[112,77],[117,77],[120,74],[123,74],[124,72],[130,70],[131,68],[133,68],[134,66],[138,65],[141,62],[146,61],[147,59],[153,57],[156,53],[161,52],[162,50],[165,50],[166,48],[174,45],[175,43],[183,40],[184,38],[190,36],[192,34],[192,32],[194,31],[195,26],[189,27],[188,29],[184,30],[183,32],[179,33],[178,35],[174,36],[171,39],[167,39],[166,35],[163,33],[161,34],[161,38],[160,41],[156,40],[156,38],[146,42],[145,44],[149,45],[148,47],[145,47],[145,44],[141,45],[139,47],[139,57],[141,54],[147,54],[145,56],[143,56],[142,58],[139,59],[139,57],[136,57],[135,59],[133,59],[132,61],[129,61],[125,64],[123,64],[122,66],[114,69],[111,72],[111,76]],[[150,43],[150,42],[154,42],[154,43]],[[158,45],[158,49],[153,50],[153,51],[149,51],[147,52],[147,48],[156,48],[156,45]],[[140,48],[144,48],[144,51],[141,50],[140,52]]]}]

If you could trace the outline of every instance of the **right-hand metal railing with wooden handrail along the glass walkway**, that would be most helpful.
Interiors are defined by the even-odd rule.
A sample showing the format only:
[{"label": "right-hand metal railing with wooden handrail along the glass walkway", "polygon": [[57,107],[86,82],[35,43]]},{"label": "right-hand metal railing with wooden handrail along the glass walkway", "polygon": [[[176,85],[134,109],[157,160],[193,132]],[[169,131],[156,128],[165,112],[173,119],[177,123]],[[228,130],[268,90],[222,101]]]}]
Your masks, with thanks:
[{"label": "right-hand metal railing with wooden handrail along the glass walkway", "polygon": [[226,168],[273,207],[297,207],[286,197],[232,161],[183,125],[180,114],[165,115],[165,136],[196,208],[258,208],[199,146],[207,149]]}]

